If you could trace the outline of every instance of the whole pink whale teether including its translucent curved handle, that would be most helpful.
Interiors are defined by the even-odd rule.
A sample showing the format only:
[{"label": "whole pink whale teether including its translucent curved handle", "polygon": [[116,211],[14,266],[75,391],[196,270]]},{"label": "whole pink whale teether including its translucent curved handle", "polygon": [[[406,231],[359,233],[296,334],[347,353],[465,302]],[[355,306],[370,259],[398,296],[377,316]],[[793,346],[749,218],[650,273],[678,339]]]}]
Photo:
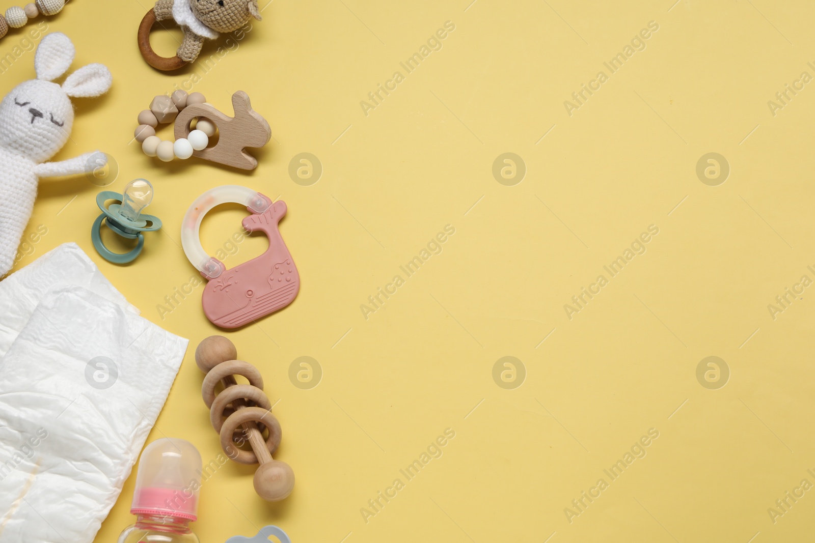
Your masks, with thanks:
[{"label": "whole pink whale teether including its translucent curved handle", "polygon": [[[207,212],[232,202],[245,205],[252,213],[241,224],[249,232],[265,233],[269,248],[261,256],[227,269],[201,247],[199,230]],[[207,190],[187,209],[181,226],[181,243],[187,259],[208,280],[201,305],[215,326],[244,326],[283,309],[297,296],[300,275],[277,227],[285,214],[283,201],[272,203],[267,196],[237,185]]]}]

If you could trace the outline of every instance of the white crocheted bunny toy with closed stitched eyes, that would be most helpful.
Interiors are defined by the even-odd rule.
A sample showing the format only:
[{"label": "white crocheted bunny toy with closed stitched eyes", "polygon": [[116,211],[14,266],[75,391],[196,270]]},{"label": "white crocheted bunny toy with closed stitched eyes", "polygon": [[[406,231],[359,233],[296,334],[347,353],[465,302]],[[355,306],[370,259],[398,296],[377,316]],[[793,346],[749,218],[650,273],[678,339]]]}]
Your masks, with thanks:
[{"label": "white crocheted bunny toy with closed stitched eyes", "polygon": [[106,163],[99,151],[46,162],[70,137],[73,106],[68,97],[99,96],[112,83],[102,64],[79,68],[62,85],[54,83],[68,71],[74,52],[63,33],[43,37],[34,55],[37,79],[15,86],[0,102],[0,277],[14,265],[39,178],[90,173]]}]

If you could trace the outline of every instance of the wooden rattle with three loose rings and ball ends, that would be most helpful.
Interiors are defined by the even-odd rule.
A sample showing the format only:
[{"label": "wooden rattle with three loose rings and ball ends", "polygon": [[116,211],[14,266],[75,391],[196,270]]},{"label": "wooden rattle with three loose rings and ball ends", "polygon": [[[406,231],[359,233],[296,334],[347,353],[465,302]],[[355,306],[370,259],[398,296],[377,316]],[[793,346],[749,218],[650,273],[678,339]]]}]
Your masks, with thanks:
[{"label": "wooden rattle with three loose rings and ball ends", "polygon": [[[271,402],[263,393],[263,378],[257,368],[236,360],[238,352],[232,342],[222,335],[210,335],[196,348],[196,364],[206,377],[201,386],[204,403],[215,431],[221,436],[221,448],[235,462],[260,463],[254,475],[254,488],[258,496],[267,501],[280,501],[294,488],[294,472],[286,462],[271,457],[280,444],[280,423],[271,414]],[[249,384],[237,384],[234,375],[249,379]],[[215,386],[223,383],[223,392],[215,395]],[[261,427],[258,427],[260,423]],[[248,436],[252,451],[238,449],[239,436]],[[269,437],[263,440],[263,428]]]}]

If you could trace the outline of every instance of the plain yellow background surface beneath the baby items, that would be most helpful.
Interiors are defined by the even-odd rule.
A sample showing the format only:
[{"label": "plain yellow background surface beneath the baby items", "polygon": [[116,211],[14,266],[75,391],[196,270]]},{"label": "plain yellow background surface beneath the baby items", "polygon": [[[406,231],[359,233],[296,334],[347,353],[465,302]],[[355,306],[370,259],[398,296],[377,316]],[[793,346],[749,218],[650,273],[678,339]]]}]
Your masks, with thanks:
[{"label": "plain yellow background surface beneath the baby items", "polygon": [[[295,542],[803,541],[815,492],[775,523],[768,508],[815,483],[815,313],[809,289],[774,320],[767,305],[815,278],[815,88],[775,116],[767,102],[801,72],[815,75],[815,8],[469,1],[261,0],[264,20],[192,89],[228,114],[230,94],[245,90],[267,118],[274,139],[249,174],[143,155],[132,142],[138,112],[205,70],[143,62],[135,35],[147,2],[70,2],[46,19],[49,31],[73,38],[73,69],[104,63],[114,82],[104,98],[76,101],[73,139],[56,158],[112,155],[120,171],[108,190],[149,179],[148,212],[165,227],[132,265],[108,264],[90,243],[99,187],[43,180],[29,232],[48,234],[15,269],[75,241],[144,317],[190,339],[148,441],[180,437],[205,462],[217,457],[193,358],[200,339],[224,333],[262,370],[279,401],[277,457],[297,484],[269,505],[253,493],[253,468],[227,463],[201,491],[194,526],[205,543],[270,523]],[[359,102],[447,20],[456,29],[443,48],[365,116]],[[569,116],[564,101],[608,75],[603,62],[649,21],[659,31],[645,50]],[[3,52],[30,28],[12,30]],[[153,45],[170,53],[178,37],[154,32]],[[33,52],[0,90],[30,77]],[[301,152],[323,165],[314,185],[289,177]],[[526,164],[515,186],[492,175],[504,152]],[[695,173],[708,152],[730,165],[719,186]],[[163,319],[156,309],[195,274],[180,248],[183,213],[222,184],[284,199],[281,232],[302,277],[289,308],[231,332],[205,320],[202,287]],[[209,217],[205,248],[223,247],[244,216]],[[366,320],[360,304],[448,224],[456,233],[443,252]],[[571,296],[652,224],[645,254],[566,317]],[[253,236],[238,247],[227,266],[266,246]],[[301,356],[324,372],[311,390],[289,381]],[[493,380],[504,356],[526,368],[519,388]],[[729,366],[724,388],[698,382],[708,356]],[[570,523],[564,509],[652,427],[659,439],[645,458]],[[456,437],[443,456],[365,523],[360,508],[446,428]],[[133,521],[134,476],[96,541]]]}]

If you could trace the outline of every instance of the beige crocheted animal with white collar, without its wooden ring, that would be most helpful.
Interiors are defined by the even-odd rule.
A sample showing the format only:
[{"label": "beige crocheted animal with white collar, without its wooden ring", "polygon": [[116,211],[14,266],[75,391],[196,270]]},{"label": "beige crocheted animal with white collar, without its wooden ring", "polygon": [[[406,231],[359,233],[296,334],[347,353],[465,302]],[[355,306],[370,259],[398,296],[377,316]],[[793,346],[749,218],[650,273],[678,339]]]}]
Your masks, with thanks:
[{"label": "beige crocheted animal with white collar, without its wooden ring", "polygon": [[184,31],[178,58],[193,62],[204,40],[214,40],[219,32],[232,32],[254,17],[261,20],[258,0],[158,0],[156,20],[174,19]]}]

